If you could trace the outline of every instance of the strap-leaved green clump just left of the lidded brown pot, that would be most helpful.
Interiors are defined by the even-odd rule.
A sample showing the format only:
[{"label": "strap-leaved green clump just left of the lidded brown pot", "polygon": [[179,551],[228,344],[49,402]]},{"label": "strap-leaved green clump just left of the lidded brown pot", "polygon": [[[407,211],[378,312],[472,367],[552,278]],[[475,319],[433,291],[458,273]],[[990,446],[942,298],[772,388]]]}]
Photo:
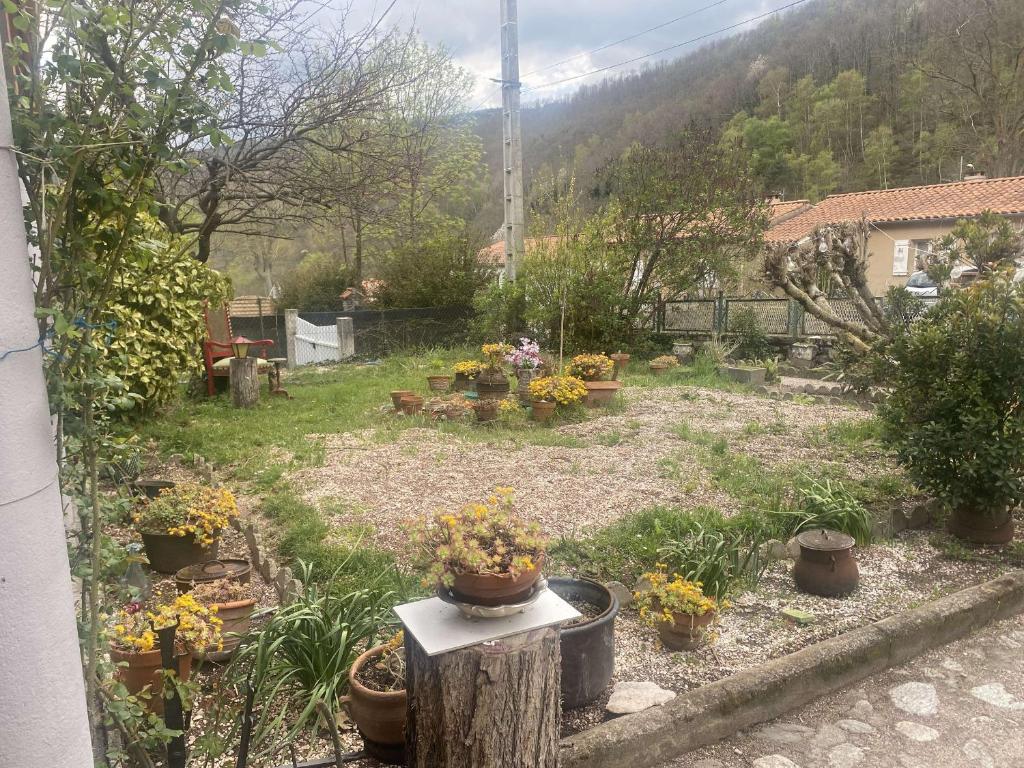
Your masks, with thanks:
[{"label": "strap-leaved green clump just left of the lidded brown pot", "polygon": [[688,536],[666,541],[657,552],[672,572],[701,584],[706,595],[721,601],[740,582],[755,588],[760,583],[768,567],[763,543],[757,534],[695,522]]}]

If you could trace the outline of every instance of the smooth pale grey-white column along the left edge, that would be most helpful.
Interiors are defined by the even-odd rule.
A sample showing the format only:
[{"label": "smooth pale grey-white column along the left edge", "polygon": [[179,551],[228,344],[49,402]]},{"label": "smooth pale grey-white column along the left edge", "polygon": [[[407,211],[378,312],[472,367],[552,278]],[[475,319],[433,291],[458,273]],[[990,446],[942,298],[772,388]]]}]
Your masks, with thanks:
[{"label": "smooth pale grey-white column along the left edge", "polygon": [[0,75],[0,766],[91,768],[42,350],[33,346],[39,330],[12,143]]}]

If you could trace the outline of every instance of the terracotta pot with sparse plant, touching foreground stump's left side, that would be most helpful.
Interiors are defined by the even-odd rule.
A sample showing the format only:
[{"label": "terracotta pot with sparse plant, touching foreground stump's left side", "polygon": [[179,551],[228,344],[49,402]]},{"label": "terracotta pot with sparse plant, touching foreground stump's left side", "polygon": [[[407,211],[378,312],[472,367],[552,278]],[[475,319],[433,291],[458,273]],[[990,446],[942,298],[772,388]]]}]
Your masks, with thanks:
[{"label": "terracotta pot with sparse plant, touching foreground stump's left side", "polygon": [[398,632],[362,653],[348,671],[348,695],[341,697],[369,755],[404,765],[406,648]]}]

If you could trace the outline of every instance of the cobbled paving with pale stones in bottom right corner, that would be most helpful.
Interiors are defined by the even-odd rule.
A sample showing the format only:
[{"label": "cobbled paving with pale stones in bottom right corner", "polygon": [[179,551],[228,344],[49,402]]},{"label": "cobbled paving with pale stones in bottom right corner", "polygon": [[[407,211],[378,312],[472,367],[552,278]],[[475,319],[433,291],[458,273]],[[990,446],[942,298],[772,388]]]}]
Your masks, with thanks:
[{"label": "cobbled paving with pale stones in bottom right corner", "polygon": [[663,768],[1024,768],[1024,616]]}]

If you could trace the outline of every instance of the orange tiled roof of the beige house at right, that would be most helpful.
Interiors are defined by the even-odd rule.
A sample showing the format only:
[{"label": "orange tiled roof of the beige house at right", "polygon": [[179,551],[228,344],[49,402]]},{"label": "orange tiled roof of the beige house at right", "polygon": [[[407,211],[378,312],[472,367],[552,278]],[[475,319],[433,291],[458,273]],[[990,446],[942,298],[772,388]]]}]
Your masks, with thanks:
[{"label": "orange tiled roof of the beige house at right", "polygon": [[985,210],[1024,214],[1024,176],[829,195],[813,208],[769,227],[765,240],[792,243],[821,224],[856,221],[861,216],[874,223],[925,221],[977,216]]}]

